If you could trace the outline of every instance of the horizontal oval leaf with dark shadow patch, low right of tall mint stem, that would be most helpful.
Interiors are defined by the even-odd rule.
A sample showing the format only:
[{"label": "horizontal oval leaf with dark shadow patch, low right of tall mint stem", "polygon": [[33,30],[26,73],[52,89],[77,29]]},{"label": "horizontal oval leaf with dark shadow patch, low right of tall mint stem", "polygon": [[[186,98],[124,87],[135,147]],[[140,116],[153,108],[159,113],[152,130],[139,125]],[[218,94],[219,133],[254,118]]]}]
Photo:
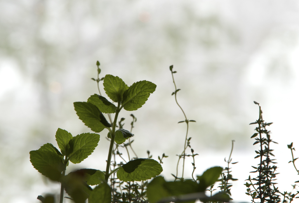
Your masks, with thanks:
[{"label": "horizontal oval leaf with dark shadow patch, low right of tall mint stem", "polygon": [[153,159],[138,158],[122,165],[117,171],[121,181],[145,181],[156,177],[163,171],[161,165]]}]

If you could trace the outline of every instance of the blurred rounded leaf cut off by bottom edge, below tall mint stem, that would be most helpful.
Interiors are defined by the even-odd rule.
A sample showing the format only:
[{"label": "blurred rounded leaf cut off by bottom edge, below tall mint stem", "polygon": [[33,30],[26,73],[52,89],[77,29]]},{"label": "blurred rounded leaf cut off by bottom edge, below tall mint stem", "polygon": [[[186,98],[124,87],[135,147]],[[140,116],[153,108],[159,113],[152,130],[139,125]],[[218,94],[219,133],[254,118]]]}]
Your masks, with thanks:
[{"label": "blurred rounded leaf cut off by bottom edge, below tall mint stem", "polygon": [[88,203],[111,203],[111,189],[106,182],[95,187],[88,198]]}]

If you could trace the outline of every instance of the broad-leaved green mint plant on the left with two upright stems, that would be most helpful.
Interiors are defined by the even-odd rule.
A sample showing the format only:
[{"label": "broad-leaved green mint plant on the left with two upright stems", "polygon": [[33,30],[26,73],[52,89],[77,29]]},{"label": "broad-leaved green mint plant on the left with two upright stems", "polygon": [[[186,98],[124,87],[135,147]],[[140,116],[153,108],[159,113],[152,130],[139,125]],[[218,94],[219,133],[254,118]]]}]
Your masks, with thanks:
[{"label": "broad-leaved green mint plant on the left with two upright stems", "polygon": [[[88,98],[87,102],[74,102],[74,109],[79,119],[93,132],[99,133],[104,129],[109,131],[107,137],[110,140],[110,145],[106,169],[81,169],[65,175],[69,161],[74,164],[80,163],[94,151],[100,140],[100,135],[96,133],[72,136],[66,130],[58,129],[56,141],[60,150],[47,143],[38,150],[30,151],[30,161],[33,167],[42,175],[61,183],[60,203],[63,202],[64,190],[70,196],[69,198],[76,203],[86,202],[86,199],[90,203],[119,201],[120,196],[119,193],[116,193],[114,186],[116,183],[121,185],[123,182],[128,183],[123,189],[129,193],[127,196],[126,193],[122,193],[123,202],[126,202],[125,199],[132,196],[131,190],[135,192],[135,196],[139,195],[138,185],[130,182],[146,181],[162,172],[161,164],[150,158],[131,159],[125,164],[112,163],[112,156],[118,153],[118,146],[134,136],[126,129],[117,129],[119,112],[122,109],[135,111],[141,108],[149,95],[155,91],[156,85],[143,80],[127,86],[122,79],[109,74],[99,79],[99,65],[100,63],[97,62],[98,78],[96,81],[99,83],[103,80],[107,96],[117,105],[101,95],[94,94]],[[106,120],[104,114],[108,115],[110,122]],[[114,114],[112,122],[110,114]],[[125,146],[130,146],[130,143]],[[114,166],[113,170],[111,170],[111,164]],[[115,173],[117,178],[115,178]],[[111,177],[112,175],[113,177]],[[92,188],[93,185],[96,187]],[[127,198],[128,195],[129,198]],[[39,196],[38,199],[42,202],[49,201],[42,196]]]}]

